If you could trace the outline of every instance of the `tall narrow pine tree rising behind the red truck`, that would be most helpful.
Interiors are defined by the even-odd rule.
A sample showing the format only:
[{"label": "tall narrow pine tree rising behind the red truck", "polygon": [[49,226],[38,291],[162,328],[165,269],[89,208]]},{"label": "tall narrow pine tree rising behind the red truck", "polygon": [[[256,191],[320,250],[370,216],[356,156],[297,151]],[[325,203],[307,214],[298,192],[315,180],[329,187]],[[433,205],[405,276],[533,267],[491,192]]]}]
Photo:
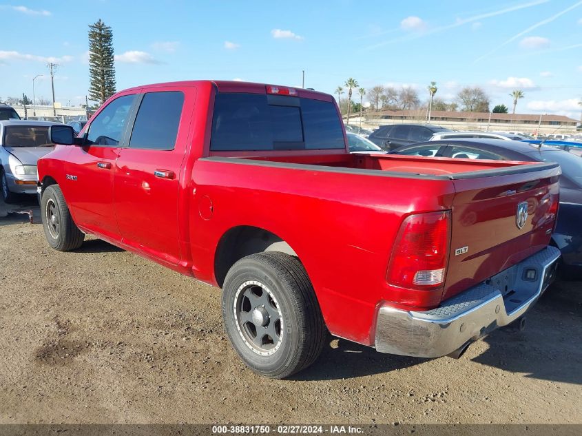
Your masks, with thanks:
[{"label": "tall narrow pine tree rising behind the red truck", "polygon": [[115,94],[113,33],[101,19],[89,25],[89,97],[103,104]]}]

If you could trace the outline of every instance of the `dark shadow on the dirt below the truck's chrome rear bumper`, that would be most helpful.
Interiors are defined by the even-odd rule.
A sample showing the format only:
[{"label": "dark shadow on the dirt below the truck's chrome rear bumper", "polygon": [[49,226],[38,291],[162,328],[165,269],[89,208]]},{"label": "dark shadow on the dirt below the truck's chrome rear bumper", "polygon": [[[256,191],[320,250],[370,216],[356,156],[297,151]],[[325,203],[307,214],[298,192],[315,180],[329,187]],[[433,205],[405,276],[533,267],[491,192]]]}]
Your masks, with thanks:
[{"label": "dark shadow on the dirt below the truck's chrome rear bumper", "polygon": [[[554,284],[527,317],[526,329],[499,329],[484,342],[489,349],[472,362],[524,373],[526,377],[582,384],[582,282]],[[409,368],[430,359],[377,353],[331,338],[320,358],[293,380],[338,380]],[[448,357],[441,357],[448,358]],[[461,357],[467,359],[467,357]],[[570,362],[564,366],[563,362]]]}]

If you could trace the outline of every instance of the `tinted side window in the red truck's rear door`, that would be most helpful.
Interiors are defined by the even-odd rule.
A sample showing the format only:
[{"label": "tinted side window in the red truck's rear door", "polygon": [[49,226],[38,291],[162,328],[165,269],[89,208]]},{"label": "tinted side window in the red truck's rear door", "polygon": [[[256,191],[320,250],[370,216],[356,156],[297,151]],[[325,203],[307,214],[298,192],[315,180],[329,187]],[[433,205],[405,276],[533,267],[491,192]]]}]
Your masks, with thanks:
[{"label": "tinted side window in the red truck's rear door", "polygon": [[176,145],[184,94],[148,92],[139,106],[129,147],[172,150]]}]

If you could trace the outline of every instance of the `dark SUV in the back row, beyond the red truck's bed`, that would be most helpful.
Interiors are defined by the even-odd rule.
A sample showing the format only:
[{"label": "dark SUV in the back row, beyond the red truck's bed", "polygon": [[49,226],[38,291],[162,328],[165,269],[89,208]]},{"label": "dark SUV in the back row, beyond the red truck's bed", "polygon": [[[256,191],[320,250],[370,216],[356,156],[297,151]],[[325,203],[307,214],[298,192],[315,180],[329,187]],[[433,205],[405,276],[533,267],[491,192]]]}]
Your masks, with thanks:
[{"label": "dark SUV in the back row, beyond the red truck's bed", "polygon": [[389,124],[375,129],[368,139],[390,151],[402,145],[428,141],[436,132],[450,132],[450,129],[432,124]]}]

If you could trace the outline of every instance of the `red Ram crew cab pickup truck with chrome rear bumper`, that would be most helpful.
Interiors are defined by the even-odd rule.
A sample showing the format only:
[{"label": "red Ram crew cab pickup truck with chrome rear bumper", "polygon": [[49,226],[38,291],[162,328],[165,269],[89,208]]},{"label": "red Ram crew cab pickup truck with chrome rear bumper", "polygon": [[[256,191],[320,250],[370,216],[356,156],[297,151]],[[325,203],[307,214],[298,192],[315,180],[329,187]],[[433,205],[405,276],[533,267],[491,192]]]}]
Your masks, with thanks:
[{"label": "red Ram crew cab pickup truck with chrome rear bumper", "polygon": [[557,164],[349,154],[328,94],[185,81],[112,96],[78,138],[51,129],[51,247],[92,233],[221,287],[231,343],[287,377],[327,331],[399,355],[459,355],[521,319],[554,276]]}]

